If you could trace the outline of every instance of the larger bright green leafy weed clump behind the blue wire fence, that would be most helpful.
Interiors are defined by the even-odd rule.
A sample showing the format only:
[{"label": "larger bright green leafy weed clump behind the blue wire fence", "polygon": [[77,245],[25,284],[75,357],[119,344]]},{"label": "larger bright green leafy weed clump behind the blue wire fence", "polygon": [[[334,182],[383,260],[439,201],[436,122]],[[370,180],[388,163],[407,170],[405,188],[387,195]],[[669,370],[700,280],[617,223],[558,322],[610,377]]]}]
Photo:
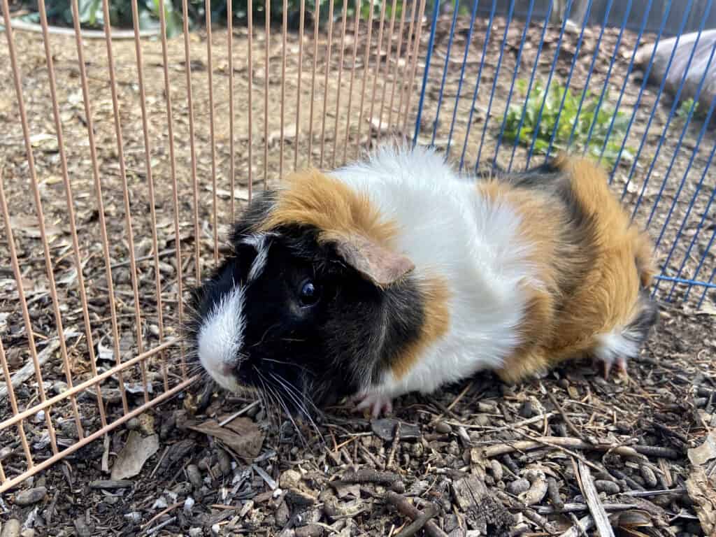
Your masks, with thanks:
[{"label": "larger bright green leafy weed clump behind the blue wire fence", "polygon": [[[522,95],[526,95],[527,85],[525,80],[518,80],[518,91]],[[583,99],[579,110],[579,103]],[[562,100],[564,104],[560,112]],[[538,120],[543,102],[544,108]],[[523,110],[524,118],[520,126]],[[620,150],[621,158],[627,161],[634,158],[629,147],[621,148],[628,127],[629,118],[624,112],[616,111],[609,105],[609,95],[604,95],[600,106],[599,97],[589,90],[584,94],[575,94],[561,84],[551,84],[546,88],[536,82],[526,102],[512,104],[508,108],[504,137],[508,142],[526,147],[532,145],[534,138],[534,150],[537,153],[547,152],[553,136],[552,150],[587,150],[591,155],[599,156],[604,147],[604,159],[614,164]]]}]

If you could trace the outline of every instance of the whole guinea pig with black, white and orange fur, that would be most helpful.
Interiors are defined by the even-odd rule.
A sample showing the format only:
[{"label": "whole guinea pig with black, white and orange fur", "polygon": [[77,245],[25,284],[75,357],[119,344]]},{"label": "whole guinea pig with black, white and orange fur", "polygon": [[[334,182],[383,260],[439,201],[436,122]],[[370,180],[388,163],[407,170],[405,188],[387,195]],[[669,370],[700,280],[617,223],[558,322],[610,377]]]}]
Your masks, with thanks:
[{"label": "whole guinea pig with black, white and orange fur", "polygon": [[657,320],[649,238],[584,158],[465,177],[384,145],[255,198],[231,249],[195,293],[198,359],[304,412],[352,396],[377,416],[485,369],[626,370]]}]

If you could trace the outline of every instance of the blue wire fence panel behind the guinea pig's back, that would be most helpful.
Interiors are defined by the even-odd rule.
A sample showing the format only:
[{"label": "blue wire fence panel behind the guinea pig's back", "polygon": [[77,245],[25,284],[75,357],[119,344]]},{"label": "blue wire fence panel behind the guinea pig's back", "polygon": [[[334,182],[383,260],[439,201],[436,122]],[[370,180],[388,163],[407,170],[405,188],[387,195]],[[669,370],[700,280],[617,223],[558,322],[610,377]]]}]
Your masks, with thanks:
[{"label": "blue wire fence panel behind the guinea pig's back", "polygon": [[[654,239],[654,296],[704,308],[716,300],[716,98],[705,99],[716,39],[705,69],[690,67],[703,66],[698,46],[710,39],[704,33],[716,26],[716,9],[713,0],[685,3],[429,4],[414,141],[440,148],[461,170],[526,168],[567,148],[588,153]],[[684,39],[686,54],[677,54],[689,32],[695,39]],[[668,36],[675,44],[664,69],[657,45]],[[647,44],[653,51],[639,54]],[[652,77],[684,60],[676,84]],[[684,99],[694,77],[695,93]]]}]

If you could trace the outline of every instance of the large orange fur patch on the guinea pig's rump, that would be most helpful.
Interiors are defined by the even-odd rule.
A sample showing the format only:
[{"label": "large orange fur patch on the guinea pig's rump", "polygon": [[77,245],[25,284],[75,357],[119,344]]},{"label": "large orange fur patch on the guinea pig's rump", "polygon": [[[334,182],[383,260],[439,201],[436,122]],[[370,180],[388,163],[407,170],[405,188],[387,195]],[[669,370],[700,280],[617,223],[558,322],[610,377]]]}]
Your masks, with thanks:
[{"label": "large orange fur patch on the guinea pig's rump", "polygon": [[[637,315],[639,287],[647,286],[654,274],[649,238],[630,223],[609,190],[604,170],[585,158],[561,157],[558,165],[591,219],[594,244],[584,245],[589,252],[571,248],[564,254],[566,245],[558,241],[566,212],[559,200],[496,181],[479,187],[520,214],[521,236],[531,247],[530,258],[543,284],[541,289],[526,289],[522,343],[498,371],[508,382],[591,354],[597,335],[625,326]],[[554,256],[558,251],[561,255]],[[584,266],[589,267],[586,274]]]}]

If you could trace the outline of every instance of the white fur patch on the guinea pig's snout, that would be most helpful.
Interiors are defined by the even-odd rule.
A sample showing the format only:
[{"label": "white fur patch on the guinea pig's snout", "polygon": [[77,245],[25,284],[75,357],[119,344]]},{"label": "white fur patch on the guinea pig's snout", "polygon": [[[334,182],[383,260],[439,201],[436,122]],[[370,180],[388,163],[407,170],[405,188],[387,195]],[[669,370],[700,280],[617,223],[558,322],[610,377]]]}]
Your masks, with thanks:
[{"label": "white fur patch on the guinea pig's snout", "polygon": [[198,354],[204,369],[226,390],[237,392],[239,384],[233,370],[240,359],[243,346],[243,287],[235,286],[224,295],[199,329]]}]

